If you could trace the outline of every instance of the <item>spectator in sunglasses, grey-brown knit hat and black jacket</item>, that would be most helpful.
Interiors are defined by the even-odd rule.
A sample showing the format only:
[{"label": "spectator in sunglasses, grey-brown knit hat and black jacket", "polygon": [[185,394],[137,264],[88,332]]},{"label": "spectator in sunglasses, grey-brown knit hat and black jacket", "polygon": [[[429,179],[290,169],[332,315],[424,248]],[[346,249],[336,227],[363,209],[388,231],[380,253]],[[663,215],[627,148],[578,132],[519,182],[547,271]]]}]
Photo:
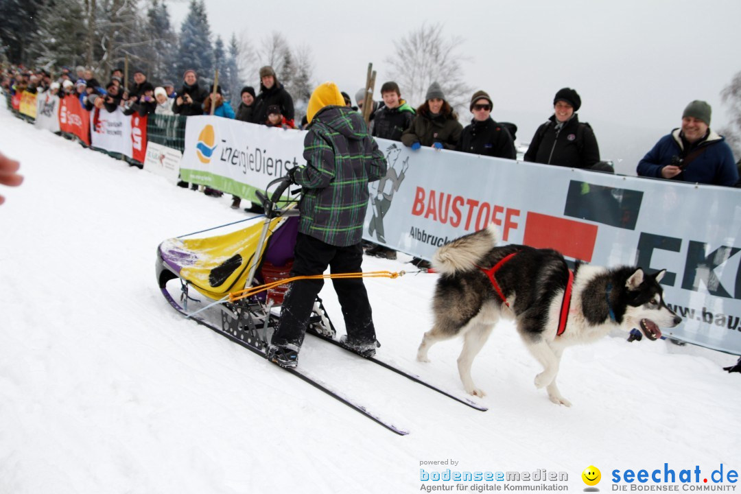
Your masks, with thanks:
[{"label": "spectator in sunglasses, grey-brown knit hat and black jacket", "polygon": [[473,120],[463,129],[457,150],[463,153],[514,159],[516,151],[512,136],[502,124],[491,119],[492,107],[494,104],[485,91],[473,93],[469,107],[473,113]]}]

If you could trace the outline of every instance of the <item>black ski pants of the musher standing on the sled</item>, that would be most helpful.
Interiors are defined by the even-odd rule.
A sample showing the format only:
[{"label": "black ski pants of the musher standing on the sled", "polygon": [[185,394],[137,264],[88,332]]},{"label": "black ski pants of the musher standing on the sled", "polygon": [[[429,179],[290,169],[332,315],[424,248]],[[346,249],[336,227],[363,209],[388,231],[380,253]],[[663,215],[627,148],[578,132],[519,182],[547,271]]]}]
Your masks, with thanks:
[{"label": "black ski pants of the musher standing on the sled", "polygon": [[[332,274],[362,271],[363,249],[359,243],[337,247],[299,233],[293,256],[290,276],[320,275],[328,266]],[[332,284],[342,307],[348,337],[358,343],[376,341],[371,303],[368,301],[363,278],[333,279]],[[283,300],[276,332],[273,333],[273,344],[301,347],[314,301],[323,286],[323,279],[298,280],[290,284]]]}]

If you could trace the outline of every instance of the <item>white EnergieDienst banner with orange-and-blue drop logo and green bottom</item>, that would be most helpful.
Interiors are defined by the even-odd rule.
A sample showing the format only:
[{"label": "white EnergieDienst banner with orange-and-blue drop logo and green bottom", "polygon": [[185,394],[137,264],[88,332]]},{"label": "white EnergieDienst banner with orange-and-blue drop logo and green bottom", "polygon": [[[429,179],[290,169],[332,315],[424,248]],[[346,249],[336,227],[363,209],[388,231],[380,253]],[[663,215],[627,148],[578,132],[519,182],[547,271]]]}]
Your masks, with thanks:
[{"label": "white EnergieDienst banner with orange-and-blue drop logo and green bottom", "polygon": [[271,180],[305,164],[304,136],[300,130],[216,116],[188,117],[180,175],[185,181],[255,201],[255,190],[264,190]]}]

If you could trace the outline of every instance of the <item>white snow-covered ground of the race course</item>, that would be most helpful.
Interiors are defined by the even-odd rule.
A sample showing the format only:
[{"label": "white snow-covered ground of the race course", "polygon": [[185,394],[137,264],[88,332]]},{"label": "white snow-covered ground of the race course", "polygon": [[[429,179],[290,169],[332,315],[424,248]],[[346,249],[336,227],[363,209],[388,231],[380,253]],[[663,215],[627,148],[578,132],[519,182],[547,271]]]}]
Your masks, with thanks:
[{"label": "white snow-covered ground of the race course", "polygon": [[[535,389],[539,366],[499,327],[473,366],[482,413],[308,338],[301,365],[411,430],[394,435],[162,298],[157,245],[244,218],[228,198],[174,187],[4,107],[0,126],[0,149],[26,176],[1,192],[0,493],[416,493],[431,484],[420,462],[435,460],[459,463],[423,468],[563,471],[572,491],[589,465],[602,491],[614,469],[741,470],[741,378],[720,369],[730,356],[624,338],[576,347],[559,374],[567,409]],[[364,268],[408,270],[399,257]],[[379,356],[461,390],[459,341],[413,361],[434,281],[367,282]],[[322,296],[342,332],[330,285]]]}]

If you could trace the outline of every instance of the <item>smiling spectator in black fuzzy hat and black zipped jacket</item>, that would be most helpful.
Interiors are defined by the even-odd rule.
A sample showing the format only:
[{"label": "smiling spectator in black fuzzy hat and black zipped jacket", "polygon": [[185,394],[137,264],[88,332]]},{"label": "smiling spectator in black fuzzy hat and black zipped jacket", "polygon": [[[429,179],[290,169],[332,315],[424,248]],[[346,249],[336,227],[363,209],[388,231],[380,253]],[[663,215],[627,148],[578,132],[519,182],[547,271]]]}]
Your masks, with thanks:
[{"label": "smiling spectator in black fuzzy hat and black zipped jacket", "polygon": [[576,90],[564,87],[554,98],[554,115],[538,127],[525,161],[559,167],[591,168],[599,162],[597,138],[589,124],[579,123],[576,112],[582,99]]}]

